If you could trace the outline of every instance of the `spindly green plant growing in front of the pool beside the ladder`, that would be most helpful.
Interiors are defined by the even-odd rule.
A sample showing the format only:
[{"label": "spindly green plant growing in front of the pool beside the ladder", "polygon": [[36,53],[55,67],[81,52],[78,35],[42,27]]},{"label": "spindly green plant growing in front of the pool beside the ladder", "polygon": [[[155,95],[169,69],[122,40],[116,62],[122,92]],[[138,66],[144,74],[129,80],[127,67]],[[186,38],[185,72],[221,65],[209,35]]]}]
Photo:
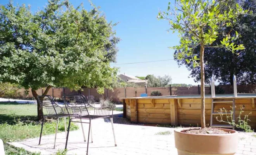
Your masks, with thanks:
[{"label": "spindly green plant growing in front of the pool beside the ladder", "polygon": [[[231,107],[231,108],[232,108],[232,110],[230,110],[230,114],[228,114],[227,109],[220,108],[220,112],[218,112],[220,114],[220,119],[218,119],[218,116],[217,116],[216,120],[219,122],[225,122],[225,123],[230,124],[231,126],[240,128],[244,132],[247,132],[247,133],[253,132],[253,130],[251,129],[251,126],[248,125],[248,121],[251,121],[248,119],[248,117],[250,114],[252,114],[252,112],[250,112],[248,115],[245,115],[244,119],[242,119],[241,115],[244,112],[244,108],[240,108],[239,116],[237,117],[238,123],[236,124],[235,120],[233,120],[234,109],[233,109],[233,107]],[[224,114],[227,117],[227,121],[223,121]],[[231,120],[231,121],[229,121],[229,120]]]}]

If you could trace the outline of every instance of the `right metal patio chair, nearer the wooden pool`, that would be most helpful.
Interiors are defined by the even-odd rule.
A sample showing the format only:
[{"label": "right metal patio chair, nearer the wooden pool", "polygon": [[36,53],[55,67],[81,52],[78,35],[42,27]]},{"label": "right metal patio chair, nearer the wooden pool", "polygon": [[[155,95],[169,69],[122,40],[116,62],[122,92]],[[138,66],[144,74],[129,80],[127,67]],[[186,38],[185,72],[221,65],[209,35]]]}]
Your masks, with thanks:
[{"label": "right metal patio chair, nearer the wooden pool", "polygon": [[[84,95],[65,95],[63,96],[64,104],[67,108],[67,112],[69,112],[69,115],[73,115],[73,118],[69,119],[69,125],[67,127],[67,139],[66,139],[66,146],[67,148],[67,141],[69,136],[69,127],[71,122],[81,122],[81,123],[88,123],[89,124],[89,130],[88,130],[88,141],[87,141],[87,152],[86,155],[88,155],[88,146],[89,146],[89,137],[90,137],[90,131],[91,129],[91,121],[93,119],[99,119],[99,118],[110,118],[113,135],[114,135],[114,143],[116,145],[116,136],[114,133],[114,125],[113,125],[113,110],[110,107],[99,107],[95,108],[92,105],[90,105]],[[92,109],[92,110],[89,110]],[[90,112],[89,112],[90,111]],[[70,113],[72,112],[72,114]],[[93,115],[90,113],[92,112]],[[80,121],[76,121],[79,120]],[[74,120],[74,121],[73,121]],[[83,122],[82,120],[88,120],[89,122]],[[83,125],[82,125],[83,130]],[[91,134],[92,138],[92,134]],[[93,141],[92,141],[93,142]]]}]

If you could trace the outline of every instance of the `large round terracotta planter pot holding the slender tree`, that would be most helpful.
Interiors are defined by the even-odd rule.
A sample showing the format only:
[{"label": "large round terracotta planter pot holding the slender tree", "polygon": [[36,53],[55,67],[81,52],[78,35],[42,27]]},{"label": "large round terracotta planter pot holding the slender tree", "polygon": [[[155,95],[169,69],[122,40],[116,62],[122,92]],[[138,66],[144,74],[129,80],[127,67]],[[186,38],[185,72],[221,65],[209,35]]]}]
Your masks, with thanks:
[{"label": "large round terracotta planter pot holding the slender tree", "polygon": [[[180,128],[174,131],[175,147],[178,155],[234,155],[238,147],[238,133],[231,129],[221,129],[231,134],[191,134]],[[220,128],[218,128],[220,129]]]}]

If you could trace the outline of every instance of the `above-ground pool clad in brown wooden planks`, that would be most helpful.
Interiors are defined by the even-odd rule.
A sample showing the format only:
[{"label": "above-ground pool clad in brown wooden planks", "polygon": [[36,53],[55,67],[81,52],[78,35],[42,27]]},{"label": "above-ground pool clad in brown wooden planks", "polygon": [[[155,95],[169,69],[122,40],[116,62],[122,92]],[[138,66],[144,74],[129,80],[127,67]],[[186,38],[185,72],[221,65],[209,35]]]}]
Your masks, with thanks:
[{"label": "above-ground pool clad in brown wooden planks", "polygon": [[[205,115],[206,124],[210,124],[211,120],[211,104],[214,113],[220,111],[220,108],[225,108],[228,111],[232,108],[232,103],[235,103],[235,121],[239,116],[240,108],[244,108],[244,115],[249,115],[248,121],[252,129],[256,129],[256,109],[255,109],[256,94],[233,94],[225,95],[206,95],[205,100]],[[201,97],[200,95],[181,95],[181,96],[155,96],[155,97],[137,97],[137,98],[122,98],[124,105],[123,116],[136,123],[152,123],[152,124],[171,124],[182,126],[201,126]],[[231,106],[231,107],[230,107]],[[215,115],[214,115],[215,116]],[[216,115],[213,118],[213,124],[225,124],[216,121]]]}]

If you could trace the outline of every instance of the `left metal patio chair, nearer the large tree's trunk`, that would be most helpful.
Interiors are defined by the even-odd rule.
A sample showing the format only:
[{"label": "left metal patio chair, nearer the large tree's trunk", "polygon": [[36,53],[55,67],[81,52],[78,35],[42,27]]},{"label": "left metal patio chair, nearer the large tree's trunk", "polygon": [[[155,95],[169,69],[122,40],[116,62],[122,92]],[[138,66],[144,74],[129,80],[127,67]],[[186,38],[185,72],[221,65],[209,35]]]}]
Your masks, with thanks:
[{"label": "left metal patio chair, nearer the large tree's trunk", "polygon": [[[41,143],[44,121],[45,120],[57,121],[56,130],[55,130],[55,138],[54,138],[54,148],[55,148],[59,119],[64,118],[64,122],[65,122],[64,127],[65,127],[66,136],[67,136],[66,117],[69,117],[69,114],[68,114],[65,106],[62,107],[62,106],[58,105],[57,103],[55,103],[53,98],[49,95],[37,96],[37,99],[38,99],[38,102],[40,103],[41,108],[43,108],[43,114],[44,114],[38,145],[40,145],[40,143]],[[44,113],[45,112],[44,109],[46,110],[46,113]],[[47,114],[47,115],[45,115],[45,114]]]}]

